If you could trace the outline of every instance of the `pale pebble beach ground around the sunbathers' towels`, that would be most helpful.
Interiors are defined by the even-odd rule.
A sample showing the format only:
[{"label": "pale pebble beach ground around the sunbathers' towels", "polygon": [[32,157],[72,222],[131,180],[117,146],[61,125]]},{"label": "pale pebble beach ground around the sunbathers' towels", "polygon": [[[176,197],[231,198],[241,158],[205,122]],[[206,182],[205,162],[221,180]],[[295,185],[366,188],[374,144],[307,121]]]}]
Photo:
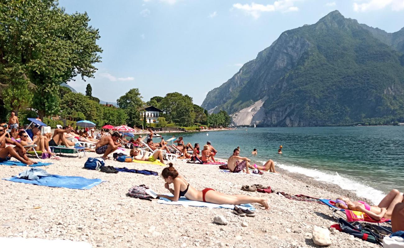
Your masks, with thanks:
[{"label": "pale pebble beach ground around the sunbathers' towels", "polygon": [[[126,150],[124,153],[128,154]],[[45,159],[53,165],[40,167],[50,174],[99,178],[105,182],[89,190],[50,188],[0,181],[3,211],[0,237],[63,239],[88,242],[93,247],[320,247],[312,240],[315,226],[328,229],[337,223],[327,206],[287,199],[278,194],[245,192],[242,185],[262,184],[291,195],[337,198],[341,194],[358,199],[352,192],[282,171],[261,176],[219,172],[218,165],[187,164],[174,167],[194,188],[213,188],[226,194],[248,194],[269,199],[270,209],[259,204],[255,217],[240,217],[226,208],[159,204],[126,196],[134,185],[145,184],[158,194],[168,194],[160,176],[163,166],[120,163],[106,165],[147,169],[158,176],[119,172],[107,174],[83,169],[88,157],[61,156]],[[36,160],[36,159],[33,159]],[[18,175],[27,167],[0,165],[1,178]],[[213,223],[223,216],[227,225]],[[379,247],[339,231],[330,234],[329,247]]]}]

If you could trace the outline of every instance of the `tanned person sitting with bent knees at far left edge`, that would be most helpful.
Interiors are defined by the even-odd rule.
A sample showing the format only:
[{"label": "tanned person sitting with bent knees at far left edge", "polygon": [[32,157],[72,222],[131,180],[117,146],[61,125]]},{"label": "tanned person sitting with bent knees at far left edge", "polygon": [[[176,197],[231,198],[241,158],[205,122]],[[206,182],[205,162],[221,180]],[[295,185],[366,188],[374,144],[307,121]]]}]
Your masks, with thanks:
[{"label": "tanned person sitting with bent knees at far left edge", "polygon": [[[6,138],[6,134],[7,132],[4,130],[4,127],[0,127],[0,162],[8,161],[10,160],[10,156],[12,156],[13,158],[17,158],[19,161],[26,164],[27,166],[36,164],[34,161],[27,157],[27,151],[25,150],[25,148],[23,148],[20,143]],[[6,147],[6,142],[8,144],[15,145],[15,147]]]}]

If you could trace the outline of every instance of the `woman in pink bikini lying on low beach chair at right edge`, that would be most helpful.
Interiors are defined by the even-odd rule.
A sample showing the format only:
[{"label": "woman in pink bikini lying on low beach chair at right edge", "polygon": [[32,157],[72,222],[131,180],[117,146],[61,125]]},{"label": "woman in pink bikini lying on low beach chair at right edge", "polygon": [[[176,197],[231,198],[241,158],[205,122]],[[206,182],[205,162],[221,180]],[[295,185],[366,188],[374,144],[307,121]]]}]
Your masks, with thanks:
[{"label": "woman in pink bikini lying on low beach chair at right edge", "polygon": [[352,202],[347,197],[339,197],[335,201],[335,206],[342,209],[349,209],[353,211],[360,211],[372,217],[375,220],[381,218],[391,219],[394,207],[403,201],[403,193],[398,190],[391,190],[377,206],[370,206],[366,202],[357,201]]}]

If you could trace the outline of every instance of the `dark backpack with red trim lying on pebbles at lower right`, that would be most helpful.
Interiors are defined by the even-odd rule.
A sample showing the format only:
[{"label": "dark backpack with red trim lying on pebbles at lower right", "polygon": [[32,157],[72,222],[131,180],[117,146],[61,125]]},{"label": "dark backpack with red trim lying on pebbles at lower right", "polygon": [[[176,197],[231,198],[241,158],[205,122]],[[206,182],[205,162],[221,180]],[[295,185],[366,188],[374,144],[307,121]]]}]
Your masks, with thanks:
[{"label": "dark backpack with red trim lying on pebbles at lower right", "polygon": [[338,219],[339,224],[331,225],[338,231],[342,231],[344,233],[349,233],[353,235],[355,238],[360,238],[362,240],[366,240],[367,242],[374,243],[374,244],[382,244],[383,239],[381,235],[378,233],[373,232],[368,228],[362,228],[361,225],[353,226],[348,221],[345,221],[342,218]]}]

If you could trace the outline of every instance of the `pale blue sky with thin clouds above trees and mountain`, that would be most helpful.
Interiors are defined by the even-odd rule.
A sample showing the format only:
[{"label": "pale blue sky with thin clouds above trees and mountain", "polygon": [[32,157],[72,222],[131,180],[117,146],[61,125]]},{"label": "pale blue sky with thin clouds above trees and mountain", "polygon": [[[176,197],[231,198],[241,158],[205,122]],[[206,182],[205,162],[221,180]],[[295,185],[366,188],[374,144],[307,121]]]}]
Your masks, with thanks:
[{"label": "pale blue sky with thin clouds above trees and mountain", "polygon": [[395,32],[404,0],[59,0],[67,13],[87,12],[100,31],[102,63],[95,78],[68,84],[116,102],[131,88],[143,100],[180,92],[202,104],[208,91],[288,29],[313,24],[332,10]]}]

